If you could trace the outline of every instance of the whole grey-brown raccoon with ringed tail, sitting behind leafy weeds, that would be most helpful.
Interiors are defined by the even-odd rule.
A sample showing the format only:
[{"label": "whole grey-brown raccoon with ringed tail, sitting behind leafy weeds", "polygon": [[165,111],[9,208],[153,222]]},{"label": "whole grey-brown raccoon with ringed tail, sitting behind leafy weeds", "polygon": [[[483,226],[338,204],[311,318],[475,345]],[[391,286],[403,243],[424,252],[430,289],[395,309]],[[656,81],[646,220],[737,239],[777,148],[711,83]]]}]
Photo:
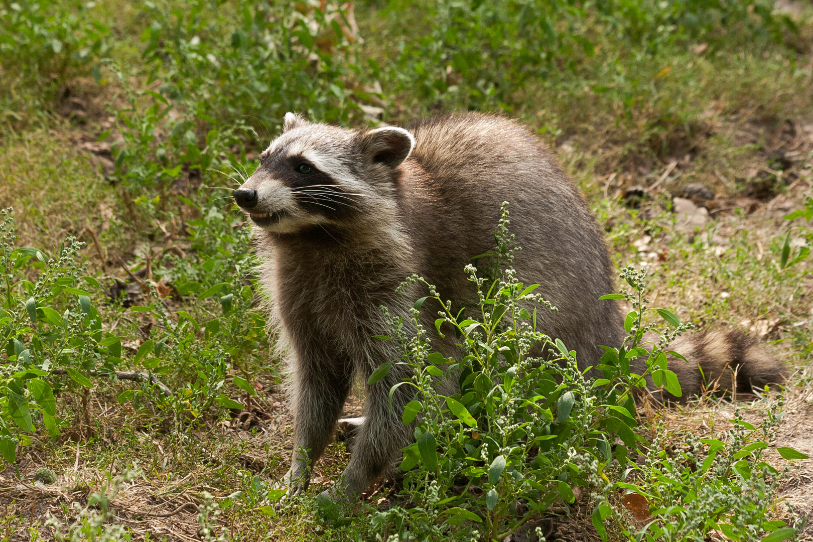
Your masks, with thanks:
[{"label": "whole grey-brown raccoon with ringed tail, sitting behind leafy weeds", "polygon": [[[495,115],[424,119],[409,129],[364,130],[315,124],[285,115],[283,133],[260,155],[257,170],[234,192],[256,225],[262,280],[272,322],[288,359],[294,450],[284,483],[307,488],[307,465],[331,440],[354,375],[367,381],[398,358],[380,306],[409,320],[414,286],[396,293],[409,275],[423,276],[455,306],[476,301],[463,268],[493,249],[503,201],[522,249],[513,265],[526,284],[559,310],[537,324],[595,366],[599,345],[620,345],[623,318],[615,301],[606,245],[588,206],[551,154],[519,124]],[[438,307],[439,308],[439,307]],[[435,312],[422,311],[433,330]],[[454,340],[432,336],[454,355]],[[740,390],[780,381],[782,366],[737,332],[706,332],[675,345],[690,363],[671,359],[684,396],[703,378],[728,379],[738,368]],[[406,372],[405,372],[406,371]],[[364,418],[338,492],[365,491],[411,441],[400,414],[411,401],[401,386],[411,373],[395,365],[367,386]],[[725,383],[724,383],[725,384]],[[728,381],[728,384],[731,384]],[[454,385],[441,383],[454,392]],[[338,493],[337,493],[338,494]]]}]

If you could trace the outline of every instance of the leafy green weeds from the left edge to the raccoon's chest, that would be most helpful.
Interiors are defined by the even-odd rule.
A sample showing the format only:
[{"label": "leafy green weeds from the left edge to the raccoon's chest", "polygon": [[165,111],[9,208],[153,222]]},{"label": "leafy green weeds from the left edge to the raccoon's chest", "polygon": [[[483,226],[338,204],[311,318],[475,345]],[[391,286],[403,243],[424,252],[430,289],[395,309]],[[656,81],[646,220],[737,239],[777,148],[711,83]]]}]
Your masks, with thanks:
[{"label": "leafy green weeds from the left edge to the raccoon's chest", "polygon": [[[147,306],[99,305],[93,300],[103,298],[90,290],[100,293],[101,284],[84,275],[85,267],[76,262],[81,243],[68,238],[53,257],[15,247],[13,220],[8,210],[2,211],[0,453],[7,461],[14,462],[17,444],[28,444],[27,434],[38,423],[51,437],[59,436],[65,422],[59,394],[75,392],[85,404],[99,378],[141,382],[140,388],[121,392],[119,400],[137,406],[149,400],[181,424],[206,416],[213,405],[242,409],[228,397],[227,381],[248,395],[256,393],[250,368],[265,365],[254,355],[267,339],[265,319],[252,309],[254,291],[246,283],[254,269],[250,234],[216,209],[207,211],[205,218],[189,223],[193,237],[205,239],[207,249],[172,273],[163,271],[180,295],[196,300],[176,314],[169,314],[152,283],[145,283],[150,290]],[[28,280],[29,275],[37,279]],[[122,319],[125,311],[150,315],[159,323],[134,353],[123,346],[130,336],[102,327]],[[229,374],[232,369],[242,376]],[[158,378],[172,384],[174,392]]]}]

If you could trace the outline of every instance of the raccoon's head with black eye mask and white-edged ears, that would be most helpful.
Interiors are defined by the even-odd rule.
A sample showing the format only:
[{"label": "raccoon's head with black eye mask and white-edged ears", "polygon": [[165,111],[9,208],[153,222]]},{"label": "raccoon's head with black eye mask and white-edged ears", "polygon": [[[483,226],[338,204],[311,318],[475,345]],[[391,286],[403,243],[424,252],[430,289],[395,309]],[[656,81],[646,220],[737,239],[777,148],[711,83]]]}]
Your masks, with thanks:
[{"label": "raccoon's head with black eye mask and white-edged ears", "polygon": [[414,145],[403,128],[348,130],[288,113],[234,199],[260,228],[279,234],[375,219],[382,206],[394,208],[399,166]]}]

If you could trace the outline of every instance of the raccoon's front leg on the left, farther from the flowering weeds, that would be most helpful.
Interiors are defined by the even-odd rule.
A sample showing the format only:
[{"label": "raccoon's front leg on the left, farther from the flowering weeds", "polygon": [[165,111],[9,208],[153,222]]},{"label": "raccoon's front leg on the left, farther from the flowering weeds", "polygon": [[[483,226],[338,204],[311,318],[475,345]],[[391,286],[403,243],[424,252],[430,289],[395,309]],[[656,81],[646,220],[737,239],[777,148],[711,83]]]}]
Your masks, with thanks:
[{"label": "raccoon's front leg on the left, farther from the flowering weeds", "polygon": [[[333,436],[350,384],[352,370],[331,362],[300,362],[293,371],[293,454],[283,479],[290,494],[307,489],[313,465]],[[307,366],[305,366],[307,365]]]}]

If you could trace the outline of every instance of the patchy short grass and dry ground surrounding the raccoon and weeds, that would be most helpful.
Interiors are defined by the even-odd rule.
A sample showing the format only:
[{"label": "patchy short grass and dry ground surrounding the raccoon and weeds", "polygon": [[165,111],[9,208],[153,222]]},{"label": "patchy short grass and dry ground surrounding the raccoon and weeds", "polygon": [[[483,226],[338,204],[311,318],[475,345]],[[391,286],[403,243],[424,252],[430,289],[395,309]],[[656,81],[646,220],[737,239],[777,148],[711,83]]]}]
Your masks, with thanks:
[{"label": "patchy short grass and dry ground surrounding the raccoon and weeds", "polygon": [[[207,32],[230,39],[233,27],[240,25],[234,22],[241,9],[237,3],[228,2],[220,12],[222,20]],[[813,194],[810,8],[803,7],[794,15],[798,34],[784,30],[780,43],[762,38],[726,41],[712,33],[664,43],[657,54],[643,56],[631,41],[602,34],[603,23],[587,17],[580,24],[593,40],[594,56],[574,54],[576,67],[544,78],[511,72],[508,75],[515,76],[511,83],[522,79],[522,84],[497,98],[456,93],[460,91],[428,96],[423,87],[406,85],[388,75],[388,60],[405,39],[402,28],[420,35],[432,32],[432,21],[420,10],[421,6],[401,3],[387,9],[376,2],[356,6],[359,35],[364,38],[359,54],[364,62],[337,75],[352,94],[341,93],[339,100],[329,89],[319,94],[322,87],[308,86],[311,99],[318,102],[311,111],[354,126],[370,121],[347,105],[350,102],[383,106],[384,118],[391,123],[470,106],[521,119],[550,144],[576,180],[606,229],[616,266],[646,263],[654,272],[650,297],[655,305],[672,309],[698,327],[746,327],[773,343],[777,355],[796,371],[785,392],[785,418],[776,444],[811,453],[813,442],[806,431],[813,431],[811,260],[784,270],[780,266],[783,241],[791,227],[782,216],[801,208],[804,197]],[[113,156],[105,154],[103,145],[99,152],[89,144],[95,144],[109,128],[107,143],[127,135],[121,119],[112,126],[109,120],[124,111],[127,85],[137,91],[159,89],[172,81],[172,73],[185,72],[168,63],[160,67],[156,67],[158,61],[147,64],[141,57],[146,47],[141,35],[150,11],[107,0],[93,8],[93,13],[115,36],[117,45],[109,56],[126,68],[123,80],[102,66],[97,83],[90,65],[77,65],[66,68],[47,92],[37,93],[30,79],[7,77],[14,65],[3,63],[0,73],[6,98],[0,137],[0,206],[15,207],[20,245],[54,249],[66,236],[80,237],[87,243],[81,254],[89,263],[89,274],[103,277],[106,286],[113,277],[131,285],[165,278],[167,284],[177,283],[176,288],[184,282],[203,281],[190,274],[201,272],[203,262],[220,258],[220,253],[202,249],[200,239],[189,235],[195,228],[189,224],[218,209],[231,216],[235,226],[237,219],[230,215],[228,199],[211,199],[228,196],[228,191],[199,187],[231,183],[207,168],[196,170],[186,148],[176,145],[169,127],[162,124],[155,141],[171,143],[167,143],[163,166],[181,166],[176,176],[167,176],[160,191],[163,199],[153,202],[155,193],[144,187],[136,187],[132,193],[123,190],[123,175],[138,163],[130,163],[129,170],[111,169],[102,158]],[[410,24],[404,25],[405,21]],[[376,72],[367,59],[376,60],[382,71]],[[405,69],[402,64],[389,64]],[[157,70],[157,75],[150,70]],[[457,67],[448,76],[450,82],[457,81],[459,89],[475,88],[478,83],[467,82]],[[376,82],[384,86],[383,98],[370,91]],[[206,81],[203,85],[213,92],[217,88]],[[142,107],[154,102],[149,94],[138,99]],[[292,100],[285,106],[309,107],[308,102]],[[274,121],[257,111],[252,113],[256,103],[240,105],[245,109],[238,109],[235,118],[217,119],[216,123],[194,119],[191,124],[193,139],[201,148],[209,129],[223,129],[230,120],[262,134],[241,132],[241,137],[212,153],[212,169],[229,175],[233,175],[229,164],[238,169],[251,167],[251,153],[267,145],[278,125],[268,125]],[[177,107],[181,117],[189,113],[188,106],[185,102]],[[256,122],[250,115],[262,120]],[[125,139],[125,144],[130,141]],[[97,153],[88,149],[97,149]],[[163,159],[156,158],[153,141],[137,149],[143,155],[134,155],[145,163]],[[785,161],[781,170],[776,167],[777,159]],[[673,161],[676,165],[670,169]],[[662,176],[658,188],[642,200],[629,195],[635,187],[651,186]],[[759,182],[767,185],[767,193],[763,190],[754,197],[752,187]],[[712,209],[706,226],[694,232],[680,228],[671,211],[672,197],[683,195],[692,183],[715,193],[717,209]],[[198,206],[179,203],[179,194]],[[215,233],[233,235],[234,231],[228,226]],[[803,241],[802,232],[796,230],[794,238]],[[179,262],[193,263],[181,273]],[[149,302],[145,296],[139,288],[131,295],[136,305]],[[221,318],[218,297],[197,301],[190,294],[172,293],[167,305],[173,312],[188,311],[204,323]],[[146,333],[141,329],[150,324],[160,327],[155,315],[124,310],[102,290],[95,293],[93,303],[109,318],[107,323],[116,323],[116,334],[126,337],[122,346],[132,363],[128,369],[139,368],[132,359],[150,333],[149,327]],[[261,345],[246,355],[255,397],[249,398],[250,393],[235,384],[231,375],[244,374],[239,367],[223,378],[229,397],[248,405],[248,414],[208,405],[197,422],[170,412],[154,398],[141,403],[118,400],[124,390],[141,389],[137,384],[96,379],[85,395],[80,386],[64,378],[57,397],[63,418],[61,436],[50,440],[44,431],[29,434],[30,443],[20,446],[15,465],[7,464],[0,474],[2,540],[52,540],[56,531],[46,526],[48,514],[63,523],[63,534],[74,521],[90,531],[102,530],[103,526],[93,527],[92,521],[93,514],[102,509],[88,506],[89,498],[104,488],[111,491],[115,475],[128,467],[141,469],[141,474],[118,482],[113,509],[117,523],[133,540],[199,540],[202,524],[212,523],[214,518],[214,510],[208,517],[200,517],[212,498],[220,507],[212,523],[215,537],[228,530],[232,540],[375,540],[376,532],[363,514],[342,518],[347,521],[344,525],[331,522],[307,497],[280,511],[267,508],[264,499],[274,489],[272,481],[280,478],[289,461],[290,418],[271,349]],[[180,390],[194,377],[172,371],[163,379]],[[362,395],[359,388],[347,407],[348,414],[360,414]],[[746,420],[756,423],[769,402],[743,403],[741,397],[710,395],[685,407],[641,410],[639,414],[646,431],[665,424],[665,447],[679,446],[688,434],[719,436],[728,430],[735,405]],[[247,419],[241,420],[241,415]],[[315,467],[316,487],[311,493],[327,487],[347,457],[344,444],[333,444]],[[789,517],[785,503],[792,503],[801,514],[813,510],[813,485],[804,475],[810,465],[811,460],[799,462],[783,482],[780,495],[786,501],[773,508],[776,518]],[[33,483],[34,471],[42,466],[54,470],[58,483]],[[392,485],[377,488],[366,502],[379,509],[398,504]],[[85,512],[73,509],[74,503]],[[185,503],[193,505],[181,509]],[[589,521],[589,496],[582,496],[580,505],[570,515],[553,517],[552,525],[563,540],[598,540]],[[176,514],[166,515],[173,511]],[[811,532],[808,527],[800,540],[813,540]],[[611,535],[620,533],[611,531]],[[383,537],[386,540],[386,533]]]}]

